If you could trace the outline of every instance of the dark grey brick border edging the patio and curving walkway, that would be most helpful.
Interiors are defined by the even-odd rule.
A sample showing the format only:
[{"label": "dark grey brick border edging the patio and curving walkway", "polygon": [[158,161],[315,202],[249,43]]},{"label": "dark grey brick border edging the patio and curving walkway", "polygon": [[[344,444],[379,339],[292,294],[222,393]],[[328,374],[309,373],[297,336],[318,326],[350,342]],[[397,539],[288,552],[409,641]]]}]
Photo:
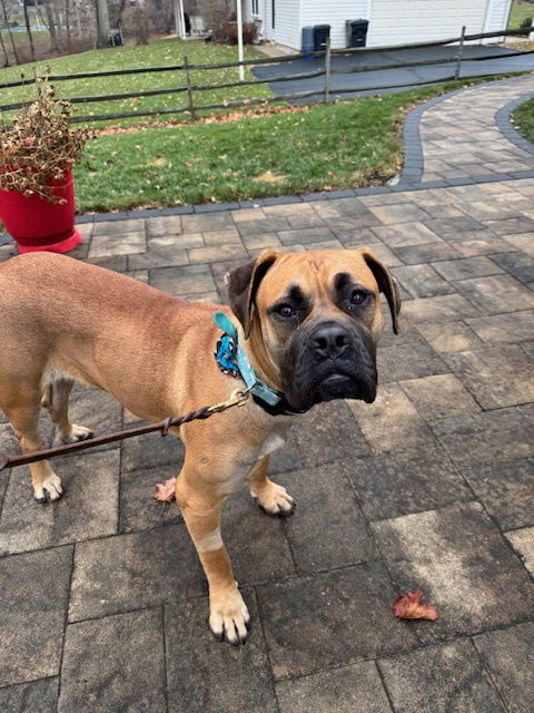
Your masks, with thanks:
[{"label": "dark grey brick border edging the patio and curving walkway", "polygon": [[[521,78],[524,75],[521,75]],[[518,79],[520,77],[517,77]],[[515,79],[515,78],[512,78]],[[472,85],[469,87],[461,87],[459,89],[453,89],[439,97],[428,99],[424,104],[421,104],[413,109],[406,117],[403,139],[405,148],[405,159],[403,168],[399,174],[398,183],[395,185],[385,186],[368,186],[366,188],[346,188],[343,191],[329,191],[308,193],[298,196],[274,196],[268,198],[257,198],[253,201],[238,201],[234,203],[200,203],[197,205],[176,206],[168,208],[147,208],[144,211],[121,211],[117,213],[92,213],[80,215],[77,217],[77,225],[86,223],[102,223],[107,221],[126,221],[136,218],[150,218],[168,215],[191,215],[202,213],[219,213],[222,211],[238,211],[240,208],[251,208],[255,206],[265,207],[269,205],[288,205],[293,203],[313,203],[315,201],[335,201],[337,198],[353,198],[367,195],[380,195],[385,193],[400,193],[404,191],[425,191],[426,188],[451,188],[453,186],[466,186],[481,183],[494,183],[501,180],[514,180],[515,178],[534,178],[534,169],[532,170],[518,170],[510,174],[488,174],[476,176],[476,178],[449,178],[448,180],[427,180],[422,182],[423,177],[423,145],[419,134],[421,118],[423,114],[433,106],[445,101],[449,97],[454,97],[457,94],[475,89],[476,87],[487,87],[488,85],[495,85],[501,81],[510,81],[511,77],[505,79],[495,79],[493,81],[485,81],[481,85]],[[516,106],[526,101],[531,97],[534,97],[534,92],[527,92],[521,97],[510,101],[504,107],[501,107],[495,114],[495,121],[501,133],[513,144],[520,148],[534,154],[534,145],[527,141],[521,134],[518,134],[510,123],[510,114]],[[0,246],[7,245],[11,242],[9,234],[0,235]]]}]

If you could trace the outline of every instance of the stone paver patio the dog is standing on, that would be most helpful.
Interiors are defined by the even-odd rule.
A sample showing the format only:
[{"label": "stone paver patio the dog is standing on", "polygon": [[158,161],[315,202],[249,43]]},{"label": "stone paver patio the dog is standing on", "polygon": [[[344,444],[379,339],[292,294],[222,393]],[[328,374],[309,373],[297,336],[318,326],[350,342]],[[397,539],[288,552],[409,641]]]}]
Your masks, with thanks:
[{"label": "stone paver patio the dog is standing on", "polygon": [[[531,713],[533,206],[521,178],[81,225],[77,257],[207,301],[264,247],[368,244],[402,284],[402,332],[374,404],[314,409],[274,457],[291,518],[228,501],[244,647],[212,638],[185,525],[151,499],[179,441],[58,459],[53,506],[26,469],[0,473],[0,711]],[[132,423],[83,388],[72,414]],[[1,417],[0,451],[17,451]],[[437,622],[395,619],[419,587]]]}]

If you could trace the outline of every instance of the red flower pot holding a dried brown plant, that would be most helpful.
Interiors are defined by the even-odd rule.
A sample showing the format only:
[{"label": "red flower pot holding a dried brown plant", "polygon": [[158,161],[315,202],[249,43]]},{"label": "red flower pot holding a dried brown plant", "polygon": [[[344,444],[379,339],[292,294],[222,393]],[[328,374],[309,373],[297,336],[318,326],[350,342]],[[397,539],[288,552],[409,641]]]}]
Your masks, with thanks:
[{"label": "red flower pot holding a dried brown plant", "polygon": [[18,191],[0,191],[0,221],[17,241],[19,253],[48,250],[67,253],[82,241],[75,227],[75,185],[72,174],[53,184],[53,195],[65,203],[50,203]]}]

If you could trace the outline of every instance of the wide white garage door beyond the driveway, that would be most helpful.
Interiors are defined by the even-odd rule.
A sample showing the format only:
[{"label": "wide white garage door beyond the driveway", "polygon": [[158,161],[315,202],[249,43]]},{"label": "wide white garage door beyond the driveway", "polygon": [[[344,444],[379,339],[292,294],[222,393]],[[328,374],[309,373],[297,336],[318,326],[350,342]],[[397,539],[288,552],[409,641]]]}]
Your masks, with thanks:
[{"label": "wide white garage door beyond the driveway", "polygon": [[[482,32],[490,0],[372,0],[367,45],[408,45]],[[304,0],[306,2],[306,0]]]}]

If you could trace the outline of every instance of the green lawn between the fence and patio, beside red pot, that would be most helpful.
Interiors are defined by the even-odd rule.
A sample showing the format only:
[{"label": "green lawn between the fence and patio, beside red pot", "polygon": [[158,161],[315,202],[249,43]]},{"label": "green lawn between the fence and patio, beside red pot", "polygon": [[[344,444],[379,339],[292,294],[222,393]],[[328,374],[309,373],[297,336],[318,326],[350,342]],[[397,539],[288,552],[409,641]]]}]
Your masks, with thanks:
[{"label": "green lawn between the fence and patio, beside red pot", "polygon": [[436,85],[227,124],[100,136],[76,169],[80,212],[227,202],[383,184],[414,104]]}]

